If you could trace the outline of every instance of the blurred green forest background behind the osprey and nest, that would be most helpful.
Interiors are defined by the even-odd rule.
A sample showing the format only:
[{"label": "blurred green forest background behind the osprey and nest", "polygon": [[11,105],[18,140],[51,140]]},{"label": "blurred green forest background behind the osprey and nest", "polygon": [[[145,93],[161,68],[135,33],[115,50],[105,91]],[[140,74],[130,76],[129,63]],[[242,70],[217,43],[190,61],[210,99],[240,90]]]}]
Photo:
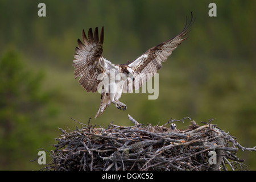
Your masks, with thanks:
[{"label": "blurred green forest background behind the osprey and nest", "polygon": [[[38,4],[46,4],[46,17]],[[217,5],[210,17],[209,3]],[[110,105],[93,125],[163,125],[170,118],[197,123],[214,118],[245,147],[256,146],[256,1],[0,1],[0,169],[38,170],[40,148],[51,151],[60,131],[88,123],[100,105],[73,76],[77,38],[104,26],[103,56],[114,64],[134,60],[179,34],[190,12],[189,38],[163,63],[159,97],[123,94],[122,111]],[[188,122],[177,123],[185,129]],[[239,152],[256,169],[254,152]],[[51,159],[47,156],[47,162]]]}]

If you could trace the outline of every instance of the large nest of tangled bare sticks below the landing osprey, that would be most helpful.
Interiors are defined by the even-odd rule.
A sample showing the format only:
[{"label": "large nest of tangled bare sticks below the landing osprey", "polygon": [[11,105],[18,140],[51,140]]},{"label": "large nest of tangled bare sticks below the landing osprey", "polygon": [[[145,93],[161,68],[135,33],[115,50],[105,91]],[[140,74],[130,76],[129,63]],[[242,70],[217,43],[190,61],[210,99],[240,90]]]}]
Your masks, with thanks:
[{"label": "large nest of tangled bare sticks below the landing osprey", "polygon": [[[134,126],[110,123],[104,129],[74,121],[82,125],[74,131],[61,130],[52,158],[44,170],[247,170],[238,150],[256,151],[242,147],[217,125],[202,122],[197,125],[191,118],[170,119],[165,125],[151,126],[138,123],[130,115]],[[189,119],[184,130],[175,128],[174,122]],[[168,127],[170,124],[170,127]]]}]

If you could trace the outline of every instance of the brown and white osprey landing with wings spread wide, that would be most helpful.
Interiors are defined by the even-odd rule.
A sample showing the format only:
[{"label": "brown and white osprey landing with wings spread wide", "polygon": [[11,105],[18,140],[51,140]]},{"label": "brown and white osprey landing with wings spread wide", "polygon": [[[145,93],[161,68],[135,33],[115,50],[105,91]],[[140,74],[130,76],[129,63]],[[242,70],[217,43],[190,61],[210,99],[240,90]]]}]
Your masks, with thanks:
[{"label": "brown and white osprey landing with wings spread wide", "polygon": [[122,92],[131,93],[139,89],[144,82],[149,80],[162,68],[162,62],[167,60],[177,46],[183,42],[188,34],[191,21],[174,38],[152,47],[144,52],[137,59],[127,64],[112,64],[102,56],[102,44],[104,39],[104,27],[101,29],[100,38],[98,28],[95,28],[94,35],[92,28],[88,31],[88,38],[82,30],[82,42],[77,40],[73,67],[75,78],[79,78],[79,84],[87,92],[101,90],[101,104],[94,118],[104,112],[106,106],[115,104],[118,109],[126,110],[126,105],[119,101]]}]

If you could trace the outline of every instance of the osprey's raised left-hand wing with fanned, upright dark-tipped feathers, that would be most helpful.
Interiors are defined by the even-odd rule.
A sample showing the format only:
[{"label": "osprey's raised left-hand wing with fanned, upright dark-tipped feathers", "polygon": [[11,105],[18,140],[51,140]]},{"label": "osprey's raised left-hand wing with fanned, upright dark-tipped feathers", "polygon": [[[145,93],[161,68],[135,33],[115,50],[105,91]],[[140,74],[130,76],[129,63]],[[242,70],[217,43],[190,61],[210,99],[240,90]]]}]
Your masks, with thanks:
[{"label": "osprey's raised left-hand wing with fanned, upright dark-tipped feathers", "polygon": [[101,56],[102,44],[104,39],[104,28],[101,29],[100,39],[98,38],[98,28],[95,28],[94,37],[92,28],[88,31],[88,38],[82,30],[82,40],[77,40],[78,46],[74,55],[73,67],[75,67],[75,78],[80,77],[79,84],[87,92],[96,92],[100,80],[97,77],[100,73],[104,73],[104,67],[101,62],[105,59]]}]

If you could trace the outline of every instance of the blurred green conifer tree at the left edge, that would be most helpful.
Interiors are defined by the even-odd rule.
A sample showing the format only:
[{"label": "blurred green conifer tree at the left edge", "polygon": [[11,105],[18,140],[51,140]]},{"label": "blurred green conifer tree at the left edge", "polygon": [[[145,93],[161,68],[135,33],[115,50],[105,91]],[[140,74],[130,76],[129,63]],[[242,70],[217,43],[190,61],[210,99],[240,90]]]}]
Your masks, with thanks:
[{"label": "blurred green conifer tree at the left edge", "polygon": [[13,169],[30,152],[36,155],[36,142],[46,138],[40,136],[47,127],[43,121],[56,109],[50,104],[53,94],[42,92],[43,73],[26,71],[19,53],[3,53],[0,70],[0,166]]}]

